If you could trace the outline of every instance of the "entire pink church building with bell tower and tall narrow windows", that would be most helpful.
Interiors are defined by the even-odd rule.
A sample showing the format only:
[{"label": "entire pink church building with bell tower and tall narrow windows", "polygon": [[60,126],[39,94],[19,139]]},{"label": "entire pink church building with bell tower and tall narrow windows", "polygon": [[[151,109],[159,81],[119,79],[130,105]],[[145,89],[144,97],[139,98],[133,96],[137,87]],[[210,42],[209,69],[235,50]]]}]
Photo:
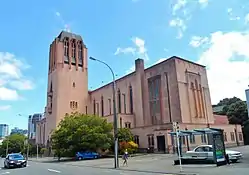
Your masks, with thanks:
[{"label": "entire pink church building with bell tower and tall narrow windows", "polygon": [[[50,45],[45,119],[37,125],[38,144],[47,145],[51,132],[66,113],[95,114],[113,122],[112,83],[88,90],[87,47],[80,35],[62,31]],[[171,152],[172,123],[180,129],[224,129],[225,143],[243,143],[241,126],[216,122],[206,68],[182,59],[169,59],[144,67],[116,80],[118,127],[129,128],[140,148]],[[207,136],[190,138],[190,146],[207,144]],[[183,143],[184,146],[185,143]]]}]

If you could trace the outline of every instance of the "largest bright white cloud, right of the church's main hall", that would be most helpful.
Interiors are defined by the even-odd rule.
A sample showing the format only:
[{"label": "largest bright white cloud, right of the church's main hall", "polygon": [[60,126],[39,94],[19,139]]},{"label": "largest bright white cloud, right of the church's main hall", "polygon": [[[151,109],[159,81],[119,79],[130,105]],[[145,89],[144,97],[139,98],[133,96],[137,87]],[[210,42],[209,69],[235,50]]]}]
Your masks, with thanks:
[{"label": "largest bright white cloud, right of the church's main hall", "polygon": [[198,63],[207,66],[212,103],[237,96],[245,100],[249,84],[249,33],[221,31],[212,33],[208,48]]}]

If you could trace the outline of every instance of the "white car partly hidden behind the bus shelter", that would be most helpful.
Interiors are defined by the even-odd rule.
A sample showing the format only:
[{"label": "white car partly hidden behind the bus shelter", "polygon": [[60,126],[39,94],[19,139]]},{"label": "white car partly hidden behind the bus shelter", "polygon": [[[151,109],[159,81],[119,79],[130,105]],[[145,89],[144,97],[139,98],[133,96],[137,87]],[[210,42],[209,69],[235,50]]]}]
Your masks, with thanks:
[{"label": "white car partly hidden behind the bus shelter", "polygon": [[[233,163],[242,158],[242,154],[239,151],[232,151],[226,149],[229,160]],[[186,156],[191,157],[206,157],[209,160],[213,160],[213,146],[212,145],[200,145],[194,148],[192,151],[187,151]]]}]

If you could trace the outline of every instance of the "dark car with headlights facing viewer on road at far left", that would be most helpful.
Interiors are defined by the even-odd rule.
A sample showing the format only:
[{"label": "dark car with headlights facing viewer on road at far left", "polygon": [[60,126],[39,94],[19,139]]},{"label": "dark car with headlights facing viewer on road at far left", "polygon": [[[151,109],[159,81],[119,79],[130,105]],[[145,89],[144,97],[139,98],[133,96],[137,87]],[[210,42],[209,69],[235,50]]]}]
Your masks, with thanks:
[{"label": "dark car with headlights facing viewer on road at far left", "polygon": [[20,153],[8,154],[4,160],[4,168],[26,167],[27,161]]}]

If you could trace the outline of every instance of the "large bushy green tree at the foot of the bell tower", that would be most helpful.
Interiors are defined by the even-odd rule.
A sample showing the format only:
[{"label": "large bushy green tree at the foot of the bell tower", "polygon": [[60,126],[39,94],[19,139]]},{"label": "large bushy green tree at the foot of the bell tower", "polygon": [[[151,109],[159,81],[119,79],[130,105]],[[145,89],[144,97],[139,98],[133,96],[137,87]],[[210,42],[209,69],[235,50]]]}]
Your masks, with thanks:
[{"label": "large bushy green tree at the foot of the bell tower", "polygon": [[98,116],[66,115],[52,133],[52,148],[58,158],[74,156],[77,151],[97,151],[112,145],[112,124]]}]

